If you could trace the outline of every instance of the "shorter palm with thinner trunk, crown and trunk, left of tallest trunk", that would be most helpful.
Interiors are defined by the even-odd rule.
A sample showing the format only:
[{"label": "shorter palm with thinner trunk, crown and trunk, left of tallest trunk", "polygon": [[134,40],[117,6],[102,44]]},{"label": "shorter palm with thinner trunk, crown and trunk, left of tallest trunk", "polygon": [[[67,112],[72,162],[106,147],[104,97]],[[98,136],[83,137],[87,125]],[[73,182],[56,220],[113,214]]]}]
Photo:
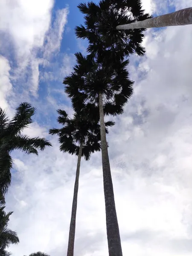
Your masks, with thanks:
[{"label": "shorter palm with thinner trunk, crown and trunk, left of tallest trunk", "polygon": [[[58,135],[61,151],[78,156],[67,248],[67,256],[73,256],[81,157],[84,156],[85,160],[89,160],[92,153],[100,151],[100,125],[97,120],[87,118],[83,111],[75,113],[72,119],[68,117],[65,111],[58,110],[58,114],[57,120],[63,127],[50,129],[49,134]],[[114,123],[111,121],[105,123],[106,127],[113,125]],[[107,128],[105,131],[108,133]]]}]

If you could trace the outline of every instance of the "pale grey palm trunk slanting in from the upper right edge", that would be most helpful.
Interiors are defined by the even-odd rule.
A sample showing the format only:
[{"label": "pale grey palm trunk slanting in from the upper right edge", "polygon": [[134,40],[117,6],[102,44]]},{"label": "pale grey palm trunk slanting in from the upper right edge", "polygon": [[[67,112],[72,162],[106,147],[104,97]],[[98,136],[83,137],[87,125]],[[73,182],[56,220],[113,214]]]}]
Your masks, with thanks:
[{"label": "pale grey palm trunk slanting in from the upper right edge", "polygon": [[148,29],[192,24],[192,7],[151,19],[116,26],[116,29]]}]

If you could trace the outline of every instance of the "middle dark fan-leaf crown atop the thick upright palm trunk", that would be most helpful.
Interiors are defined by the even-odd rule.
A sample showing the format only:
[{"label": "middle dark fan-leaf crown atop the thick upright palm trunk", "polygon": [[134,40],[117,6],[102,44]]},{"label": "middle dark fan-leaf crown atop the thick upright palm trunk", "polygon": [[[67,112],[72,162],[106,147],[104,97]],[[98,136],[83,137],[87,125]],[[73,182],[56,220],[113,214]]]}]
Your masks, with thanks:
[{"label": "middle dark fan-leaf crown atop the thick upright palm trunk", "polygon": [[73,109],[85,110],[87,114],[99,119],[98,95],[103,96],[106,115],[123,113],[123,106],[133,93],[133,81],[129,79],[128,60],[114,62],[105,67],[89,56],[76,53],[77,65],[73,73],[65,77],[65,92],[71,98]]}]

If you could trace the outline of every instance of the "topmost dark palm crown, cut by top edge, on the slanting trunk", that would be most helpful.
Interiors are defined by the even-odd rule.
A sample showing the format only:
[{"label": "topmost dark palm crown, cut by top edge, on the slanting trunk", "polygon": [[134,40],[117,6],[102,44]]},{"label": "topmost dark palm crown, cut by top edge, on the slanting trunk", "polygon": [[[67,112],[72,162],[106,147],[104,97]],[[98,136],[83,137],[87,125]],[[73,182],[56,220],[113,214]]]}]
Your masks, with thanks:
[{"label": "topmost dark palm crown, cut by top edge, on the slanting trunk", "polygon": [[106,64],[129,56],[134,52],[145,54],[141,46],[145,29],[116,30],[116,26],[145,20],[151,16],[144,13],[141,0],[101,0],[80,3],[79,10],[84,14],[84,25],[76,27],[76,36],[87,39],[87,52],[97,61],[107,58]]}]

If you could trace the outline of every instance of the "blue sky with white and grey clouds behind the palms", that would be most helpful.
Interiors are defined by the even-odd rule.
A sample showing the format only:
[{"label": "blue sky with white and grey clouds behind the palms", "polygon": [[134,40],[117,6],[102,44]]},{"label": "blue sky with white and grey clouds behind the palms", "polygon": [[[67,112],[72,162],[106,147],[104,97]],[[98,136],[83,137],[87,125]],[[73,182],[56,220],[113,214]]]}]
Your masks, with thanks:
[{"label": "blue sky with white and grey clouds behind the palms", "polygon": [[[77,157],[59,151],[56,110],[73,114],[63,78],[86,54],[74,27],[79,0],[0,2],[0,107],[11,117],[20,102],[37,108],[25,134],[46,137],[39,156],[13,153],[7,211],[20,243],[13,256],[43,251],[66,255]],[[192,0],[143,0],[156,15]],[[123,255],[192,255],[192,26],[148,29],[146,55],[133,55],[135,81],[125,113],[107,136]],[[81,160],[75,256],[108,254],[101,153]]]}]

